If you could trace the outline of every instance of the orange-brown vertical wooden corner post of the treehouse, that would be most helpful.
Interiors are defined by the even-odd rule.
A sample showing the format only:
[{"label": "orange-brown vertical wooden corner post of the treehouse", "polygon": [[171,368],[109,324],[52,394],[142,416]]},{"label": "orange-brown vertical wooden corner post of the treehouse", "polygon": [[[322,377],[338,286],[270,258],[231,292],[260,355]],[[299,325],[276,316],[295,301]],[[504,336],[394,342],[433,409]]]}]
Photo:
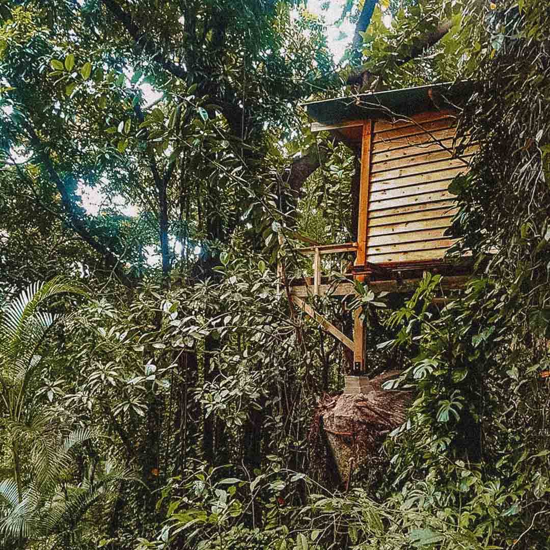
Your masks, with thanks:
[{"label": "orange-brown vertical wooden corner post of the treehouse", "polygon": [[[372,149],[372,120],[365,120],[363,123],[361,143],[361,180],[359,184],[359,216],[357,219],[357,254],[355,266],[366,265],[367,252],[367,221],[368,221],[368,194],[371,172],[371,149]],[[365,281],[364,276],[355,276],[361,283]],[[364,372],[365,357],[364,349],[364,326],[361,318],[361,309],[357,309],[354,315],[353,340],[354,340],[354,370]]]}]

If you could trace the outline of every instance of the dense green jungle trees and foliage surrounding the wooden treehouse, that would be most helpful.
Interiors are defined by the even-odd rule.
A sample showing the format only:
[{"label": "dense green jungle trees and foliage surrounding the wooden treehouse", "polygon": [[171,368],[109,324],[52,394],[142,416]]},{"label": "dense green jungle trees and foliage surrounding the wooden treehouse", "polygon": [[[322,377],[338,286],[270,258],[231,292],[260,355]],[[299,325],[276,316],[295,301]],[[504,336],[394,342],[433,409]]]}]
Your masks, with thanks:
[{"label": "dense green jungle trees and foliage surrounding the wooden treehouse", "polygon": [[[0,2],[0,547],[550,547],[548,3],[319,4]],[[349,357],[277,261],[354,239],[359,161],[300,103],[361,101],[357,70],[470,80],[480,146],[452,301],[429,274],[316,298],[345,332],[362,306],[367,374],[414,392],[346,491],[308,432]]]}]

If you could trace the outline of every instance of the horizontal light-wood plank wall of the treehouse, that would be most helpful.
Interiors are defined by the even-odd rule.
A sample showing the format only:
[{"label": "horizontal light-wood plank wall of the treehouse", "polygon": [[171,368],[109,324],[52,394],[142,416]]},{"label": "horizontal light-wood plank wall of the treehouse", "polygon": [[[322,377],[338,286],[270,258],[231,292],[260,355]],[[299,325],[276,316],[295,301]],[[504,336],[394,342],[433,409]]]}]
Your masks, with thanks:
[{"label": "horizontal light-wood plank wall of the treehouse", "polygon": [[[447,188],[455,175],[467,170],[474,153],[470,147],[453,158],[455,120],[450,113],[437,112],[373,124],[366,155],[363,147],[368,168],[362,175],[368,183],[361,182],[362,190],[368,189],[366,262],[439,259],[453,244],[443,236],[456,212]],[[365,223],[361,216],[360,223]]]}]

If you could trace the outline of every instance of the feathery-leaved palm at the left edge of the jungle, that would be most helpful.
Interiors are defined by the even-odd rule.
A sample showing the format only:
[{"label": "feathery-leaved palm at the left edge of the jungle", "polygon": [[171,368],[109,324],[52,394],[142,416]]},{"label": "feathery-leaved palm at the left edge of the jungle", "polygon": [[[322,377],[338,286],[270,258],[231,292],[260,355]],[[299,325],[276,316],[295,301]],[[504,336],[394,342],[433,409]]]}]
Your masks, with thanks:
[{"label": "feathery-leaved palm at the left edge of the jungle", "polygon": [[59,485],[73,448],[89,439],[90,432],[81,428],[63,436],[38,391],[48,335],[64,317],[46,306],[68,293],[85,295],[85,290],[56,277],[30,285],[1,311],[0,423],[12,470],[12,476],[0,482],[0,533],[6,542],[51,532],[69,509],[82,507],[95,490],[94,482],[74,491]]}]

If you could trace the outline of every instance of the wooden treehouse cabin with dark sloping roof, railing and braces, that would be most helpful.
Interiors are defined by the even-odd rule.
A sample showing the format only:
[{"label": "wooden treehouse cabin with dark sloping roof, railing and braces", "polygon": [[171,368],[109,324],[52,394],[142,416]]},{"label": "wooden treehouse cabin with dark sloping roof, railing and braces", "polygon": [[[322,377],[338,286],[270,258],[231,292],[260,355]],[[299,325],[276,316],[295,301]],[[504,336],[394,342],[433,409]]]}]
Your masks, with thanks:
[{"label": "wooden treehouse cabin with dark sloping roof, railing and braces", "polygon": [[[305,105],[315,120],[312,131],[330,131],[360,154],[360,185],[353,191],[359,196],[359,215],[355,243],[301,249],[313,255],[313,285],[293,287],[292,296],[317,321],[324,321],[323,326],[335,337],[353,346],[356,366],[363,361],[359,318],[352,342],[320,319],[303,298],[328,290],[321,279],[321,256],[342,251],[355,252],[353,278],[367,281],[375,290],[410,290],[424,270],[444,273],[448,287],[464,282],[467,266],[447,262],[444,256],[454,243],[445,231],[456,213],[448,186],[456,175],[467,171],[475,152],[474,146],[457,147],[454,139],[455,106],[470,93],[471,85],[460,83]],[[353,285],[341,284],[331,292],[349,294]]]}]

